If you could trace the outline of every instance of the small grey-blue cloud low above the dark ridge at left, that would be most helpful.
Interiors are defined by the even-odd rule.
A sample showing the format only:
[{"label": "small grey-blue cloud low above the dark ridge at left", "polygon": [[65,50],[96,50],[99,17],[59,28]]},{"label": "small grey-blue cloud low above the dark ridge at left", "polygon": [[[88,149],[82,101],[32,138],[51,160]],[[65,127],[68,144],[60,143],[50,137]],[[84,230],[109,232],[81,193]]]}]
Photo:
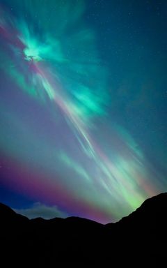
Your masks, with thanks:
[{"label": "small grey-blue cloud low above the dark ridge at left", "polygon": [[50,218],[66,218],[68,215],[59,210],[58,207],[52,206],[49,207],[45,204],[41,204],[40,202],[35,202],[33,204],[33,207],[30,207],[28,209],[13,209],[16,213],[22,214],[26,216],[27,218],[45,218],[45,219],[50,219]]}]

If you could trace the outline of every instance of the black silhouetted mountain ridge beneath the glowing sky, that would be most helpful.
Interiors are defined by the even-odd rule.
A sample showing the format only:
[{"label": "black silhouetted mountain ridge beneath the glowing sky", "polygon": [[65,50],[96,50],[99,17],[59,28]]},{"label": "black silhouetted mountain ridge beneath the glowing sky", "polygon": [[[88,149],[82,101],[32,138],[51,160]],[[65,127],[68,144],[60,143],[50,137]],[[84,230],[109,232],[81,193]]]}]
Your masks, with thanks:
[{"label": "black silhouetted mountain ridge beneath the glowing sky", "polygon": [[0,227],[3,267],[165,267],[167,193],[107,225],[77,217],[29,220],[0,203]]}]

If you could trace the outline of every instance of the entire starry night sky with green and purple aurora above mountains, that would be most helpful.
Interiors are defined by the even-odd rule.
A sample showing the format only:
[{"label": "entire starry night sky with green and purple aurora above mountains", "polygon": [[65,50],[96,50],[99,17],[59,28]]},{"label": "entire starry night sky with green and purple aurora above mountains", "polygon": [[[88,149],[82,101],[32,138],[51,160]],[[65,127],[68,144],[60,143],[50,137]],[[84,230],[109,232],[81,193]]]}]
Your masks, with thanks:
[{"label": "entire starry night sky with green and purple aurora above mountains", "polygon": [[109,223],[166,191],[166,10],[0,1],[0,202]]}]

